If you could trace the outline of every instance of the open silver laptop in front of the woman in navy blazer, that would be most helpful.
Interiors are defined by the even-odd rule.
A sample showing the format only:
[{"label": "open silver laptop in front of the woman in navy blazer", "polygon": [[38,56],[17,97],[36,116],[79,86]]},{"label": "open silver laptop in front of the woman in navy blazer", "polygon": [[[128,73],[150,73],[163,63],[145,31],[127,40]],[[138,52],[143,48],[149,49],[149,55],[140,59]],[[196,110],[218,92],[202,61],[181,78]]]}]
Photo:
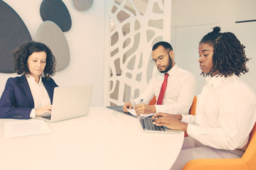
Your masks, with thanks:
[{"label": "open silver laptop in front of the woman in navy blazer", "polygon": [[36,117],[49,122],[57,122],[87,115],[90,109],[92,86],[55,87],[51,115]]}]

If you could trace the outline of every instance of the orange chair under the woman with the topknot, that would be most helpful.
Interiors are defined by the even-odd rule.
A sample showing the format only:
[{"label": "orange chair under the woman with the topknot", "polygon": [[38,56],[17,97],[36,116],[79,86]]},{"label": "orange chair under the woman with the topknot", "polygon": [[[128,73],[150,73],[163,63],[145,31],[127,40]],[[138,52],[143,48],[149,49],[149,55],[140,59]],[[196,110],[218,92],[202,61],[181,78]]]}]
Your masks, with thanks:
[{"label": "orange chair under the woman with the topknot", "polygon": [[241,158],[237,159],[193,159],[182,170],[256,170],[256,123],[250,132],[249,145]]}]

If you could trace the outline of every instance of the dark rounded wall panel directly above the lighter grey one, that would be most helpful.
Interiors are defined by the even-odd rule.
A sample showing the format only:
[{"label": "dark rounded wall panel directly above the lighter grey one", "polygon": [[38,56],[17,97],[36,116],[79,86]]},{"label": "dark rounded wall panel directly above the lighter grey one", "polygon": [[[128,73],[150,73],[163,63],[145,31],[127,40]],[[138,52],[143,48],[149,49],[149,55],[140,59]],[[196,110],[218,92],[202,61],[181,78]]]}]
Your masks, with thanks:
[{"label": "dark rounded wall panel directly above the lighter grey one", "polygon": [[61,0],[43,0],[40,14],[43,21],[53,21],[63,32],[70,30],[72,26],[68,8]]}]

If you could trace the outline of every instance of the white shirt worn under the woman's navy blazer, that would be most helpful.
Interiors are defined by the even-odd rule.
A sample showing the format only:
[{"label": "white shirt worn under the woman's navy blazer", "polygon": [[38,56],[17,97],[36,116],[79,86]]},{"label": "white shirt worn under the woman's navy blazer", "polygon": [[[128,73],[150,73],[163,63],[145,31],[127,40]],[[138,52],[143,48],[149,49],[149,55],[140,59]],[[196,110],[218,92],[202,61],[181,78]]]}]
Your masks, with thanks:
[{"label": "white shirt worn under the woman's navy blazer", "polygon": [[45,86],[43,86],[42,77],[40,77],[38,84],[36,83],[36,79],[29,74],[26,74],[26,79],[28,80],[28,86],[31,89],[34,101],[34,108],[31,111],[30,117],[36,118],[36,109],[50,105],[50,97]]}]

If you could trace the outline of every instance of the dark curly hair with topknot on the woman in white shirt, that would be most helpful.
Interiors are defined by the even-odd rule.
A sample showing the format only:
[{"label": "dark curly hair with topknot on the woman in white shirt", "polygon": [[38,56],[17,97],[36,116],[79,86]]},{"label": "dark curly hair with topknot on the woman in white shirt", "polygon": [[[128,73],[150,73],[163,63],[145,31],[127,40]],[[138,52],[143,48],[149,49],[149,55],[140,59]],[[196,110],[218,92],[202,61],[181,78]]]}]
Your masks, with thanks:
[{"label": "dark curly hair with topknot on the woman in white shirt", "polygon": [[[246,67],[248,59],[245,55],[245,46],[240,43],[233,33],[219,33],[220,28],[213,28],[213,32],[203,37],[201,43],[213,46],[213,68],[210,72],[218,71],[218,76],[228,77],[232,74],[240,77],[249,72]],[[208,74],[201,73],[203,76]]]}]

